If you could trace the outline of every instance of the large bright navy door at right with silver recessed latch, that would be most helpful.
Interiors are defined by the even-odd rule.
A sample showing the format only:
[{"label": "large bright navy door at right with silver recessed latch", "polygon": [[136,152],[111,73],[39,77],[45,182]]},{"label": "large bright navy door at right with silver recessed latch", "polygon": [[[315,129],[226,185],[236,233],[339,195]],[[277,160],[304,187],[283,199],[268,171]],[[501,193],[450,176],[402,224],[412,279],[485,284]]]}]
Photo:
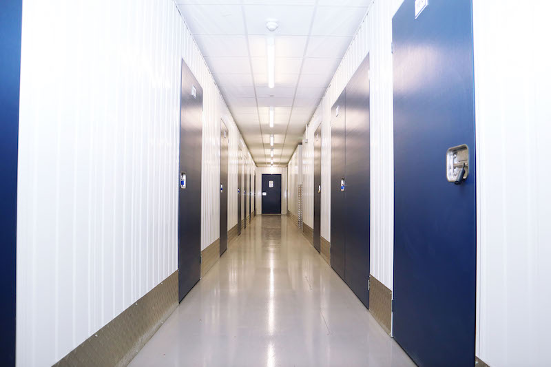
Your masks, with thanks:
[{"label": "large bright navy door at right with silver recessed latch", "polygon": [[[419,366],[475,363],[475,105],[470,0],[431,0],[393,18],[394,315]],[[468,145],[469,176],[446,178]]]}]

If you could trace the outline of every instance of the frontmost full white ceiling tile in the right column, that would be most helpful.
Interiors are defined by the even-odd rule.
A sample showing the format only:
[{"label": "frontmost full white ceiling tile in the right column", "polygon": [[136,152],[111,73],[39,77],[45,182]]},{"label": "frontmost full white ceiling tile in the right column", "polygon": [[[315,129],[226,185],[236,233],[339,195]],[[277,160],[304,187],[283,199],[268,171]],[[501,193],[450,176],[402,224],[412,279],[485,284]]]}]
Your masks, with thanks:
[{"label": "frontmost full white ceiling tile in the right column", "polygon": [[353,36],[364,19],[367,8],[320,6],[315,12],[313,36]]}]

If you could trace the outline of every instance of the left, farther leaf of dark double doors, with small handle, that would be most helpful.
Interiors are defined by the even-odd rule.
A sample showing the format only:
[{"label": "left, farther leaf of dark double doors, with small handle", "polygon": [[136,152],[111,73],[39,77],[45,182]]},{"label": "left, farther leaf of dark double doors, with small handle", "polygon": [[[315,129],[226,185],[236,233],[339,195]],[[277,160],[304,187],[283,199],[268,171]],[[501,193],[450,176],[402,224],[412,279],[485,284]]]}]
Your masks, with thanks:
[{"label": "left, farther leaf of dark double doors, with small handle", "polygon": [[340,183],[346,164],[345,114],[346,90],[331,108],[331,267],[343,280],[346,279],[346,191],[341,191]]}]

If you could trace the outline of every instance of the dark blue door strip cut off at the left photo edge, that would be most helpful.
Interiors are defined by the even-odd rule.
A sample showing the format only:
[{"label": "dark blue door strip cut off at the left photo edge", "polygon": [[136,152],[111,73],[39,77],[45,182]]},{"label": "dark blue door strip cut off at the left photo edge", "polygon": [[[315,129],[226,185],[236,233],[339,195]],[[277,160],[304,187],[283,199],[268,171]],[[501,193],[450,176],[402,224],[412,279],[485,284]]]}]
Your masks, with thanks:
[{"label": "dark blue door strip cut off at the left photo edge", "polygon": [[0,3],[0,355],[15,365],[15,254],[17,218],[17,145],[21,69],[21,0]]}]

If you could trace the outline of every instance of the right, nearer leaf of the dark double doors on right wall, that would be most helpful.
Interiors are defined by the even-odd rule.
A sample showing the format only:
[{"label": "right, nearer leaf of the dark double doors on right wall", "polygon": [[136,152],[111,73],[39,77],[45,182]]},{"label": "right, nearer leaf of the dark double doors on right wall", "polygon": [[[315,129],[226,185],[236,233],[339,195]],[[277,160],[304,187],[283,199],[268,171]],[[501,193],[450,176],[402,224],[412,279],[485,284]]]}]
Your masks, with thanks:
[{"label": "right, nearer leaf of the dark double doors on right wall", "polygon": [[369,55],[346,85],[346,284],[368,307]]}]

